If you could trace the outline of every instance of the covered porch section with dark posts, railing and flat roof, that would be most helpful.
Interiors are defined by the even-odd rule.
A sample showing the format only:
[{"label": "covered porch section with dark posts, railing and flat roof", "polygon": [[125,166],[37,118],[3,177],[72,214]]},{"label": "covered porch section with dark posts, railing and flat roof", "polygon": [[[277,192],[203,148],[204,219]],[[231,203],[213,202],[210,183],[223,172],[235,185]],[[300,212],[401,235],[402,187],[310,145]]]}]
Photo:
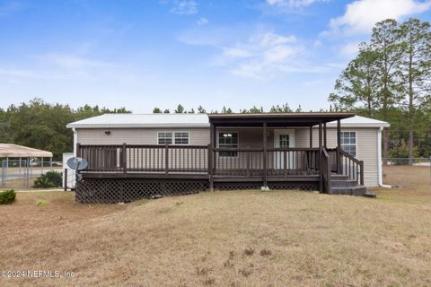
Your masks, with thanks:
[{"label": "covered porch section with dark posts, railing and flat roof", "polygon": [[[210,189],[218,189],[222,183],[241,187],[242,183],[256,182],[262,187],[317,188],[330,193],[334,179],[353,179],[363,184],[362,161],[341,149],[341,119],[353,116],[349,113],[209,115]],[[327,123],[333,121],[337,122],[337,145],[329,148]],[[317,139],[313,136],[316,127]],[[301,144],[297,144],[298,129],[302,135],[309,134],[308,143],[304,143],[302,136]],[[237,131],[241,131],[240,135]]]}]

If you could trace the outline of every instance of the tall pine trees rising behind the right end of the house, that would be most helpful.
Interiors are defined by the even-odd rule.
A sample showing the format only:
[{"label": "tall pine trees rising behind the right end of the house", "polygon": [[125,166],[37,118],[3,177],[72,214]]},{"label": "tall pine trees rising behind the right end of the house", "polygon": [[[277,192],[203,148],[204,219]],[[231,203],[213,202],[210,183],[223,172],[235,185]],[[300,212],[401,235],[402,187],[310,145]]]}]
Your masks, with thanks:
[{"label": "tall pine trees rising behind the right end of the house", "polygon": [[391,124],[383,131],[383,158],[430,156],[431,29],[411,18],[378,22],[371,39],[339,75],[329,100]]}]

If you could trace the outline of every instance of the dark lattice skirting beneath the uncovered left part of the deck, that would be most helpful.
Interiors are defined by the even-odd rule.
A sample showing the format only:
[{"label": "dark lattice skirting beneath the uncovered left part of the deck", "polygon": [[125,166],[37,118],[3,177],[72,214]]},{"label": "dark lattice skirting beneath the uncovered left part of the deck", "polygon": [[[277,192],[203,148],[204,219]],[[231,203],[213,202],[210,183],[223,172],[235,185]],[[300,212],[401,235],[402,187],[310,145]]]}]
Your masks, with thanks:
[{"label": "dark lattice skirting beneath the uncovered left part of the deck", "polygon": [[76,185],[76,201],[83,204],[116,204],[152,196],[182,196],[207,190],[207,180],[85,178]]}]

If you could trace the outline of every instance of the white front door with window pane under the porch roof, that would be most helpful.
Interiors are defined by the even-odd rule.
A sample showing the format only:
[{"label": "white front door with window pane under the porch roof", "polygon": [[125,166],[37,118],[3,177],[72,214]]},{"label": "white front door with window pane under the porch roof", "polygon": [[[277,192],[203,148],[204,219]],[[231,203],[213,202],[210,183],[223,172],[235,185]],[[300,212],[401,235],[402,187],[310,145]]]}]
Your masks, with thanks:
[{"label": "white front door with window pane under the porch roof", "polygon": [[[275,148],[292,148],[295,147],[295,130],[293,129],[275,129],[274,130],[274,147]],[[286,161],[285,161],[286,156]],[[286,164],[287,170],[295,169],[295,152],[274,152],[274,169],[284,170]]]}]

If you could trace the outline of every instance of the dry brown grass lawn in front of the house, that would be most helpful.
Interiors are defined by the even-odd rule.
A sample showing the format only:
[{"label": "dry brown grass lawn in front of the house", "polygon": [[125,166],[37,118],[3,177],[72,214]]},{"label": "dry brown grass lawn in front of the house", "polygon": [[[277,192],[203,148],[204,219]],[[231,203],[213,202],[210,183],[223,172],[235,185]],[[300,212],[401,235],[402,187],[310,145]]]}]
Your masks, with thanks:
[{"label": "dry brown grass lawn in front of the house", "polygon": [[82,205],[19,194],[0,207],[0,270],[75,276],[0,285],[429,286],[431,188],[409,172],[411,185],[377,189],[376,200],[235,191]]}]

